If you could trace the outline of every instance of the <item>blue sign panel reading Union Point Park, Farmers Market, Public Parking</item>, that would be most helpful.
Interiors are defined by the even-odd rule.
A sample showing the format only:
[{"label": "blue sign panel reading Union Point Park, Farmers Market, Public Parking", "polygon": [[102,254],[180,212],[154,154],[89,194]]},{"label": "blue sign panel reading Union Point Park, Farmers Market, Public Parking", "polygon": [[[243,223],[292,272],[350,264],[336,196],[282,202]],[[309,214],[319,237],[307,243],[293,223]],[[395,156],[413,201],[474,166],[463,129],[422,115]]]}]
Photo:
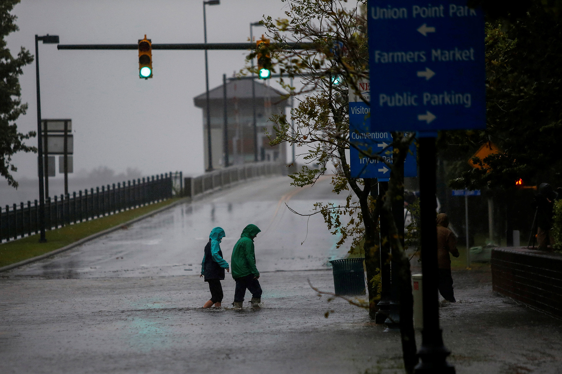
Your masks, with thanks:
[{"label": "blue sign panel reading Union Point Park, Farmers Market, Public Parking", "polygon": [[486,127],[481,8],[466,0],[369,0],[368,30],[373,128]]}]

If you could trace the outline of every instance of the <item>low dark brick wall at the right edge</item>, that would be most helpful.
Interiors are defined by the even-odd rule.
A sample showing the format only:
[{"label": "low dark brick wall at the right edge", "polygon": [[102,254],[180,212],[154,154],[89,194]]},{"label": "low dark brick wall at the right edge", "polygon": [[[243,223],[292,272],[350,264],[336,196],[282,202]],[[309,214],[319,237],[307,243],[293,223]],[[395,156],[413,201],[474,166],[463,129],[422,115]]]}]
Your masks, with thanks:
[{"label": "low dark brick wall at the right edge", "polygon": [[492,288],[562,317],[562,255],[527,248],[494,248]]}]

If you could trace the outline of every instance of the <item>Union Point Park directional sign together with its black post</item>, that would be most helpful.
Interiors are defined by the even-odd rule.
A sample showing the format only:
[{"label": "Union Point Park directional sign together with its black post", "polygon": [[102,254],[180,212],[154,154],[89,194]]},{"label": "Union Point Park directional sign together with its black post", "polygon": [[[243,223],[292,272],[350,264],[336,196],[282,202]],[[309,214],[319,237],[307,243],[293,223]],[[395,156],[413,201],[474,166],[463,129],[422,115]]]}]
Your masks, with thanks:
[{"label": "Union Point Park directional sign together with its black post", "polygon": [[418,131],[424,329],[415,373],[454,373],[437,298],[437,130],[485,128],[484,17],[466,0],[368,1],[371,122]]}]

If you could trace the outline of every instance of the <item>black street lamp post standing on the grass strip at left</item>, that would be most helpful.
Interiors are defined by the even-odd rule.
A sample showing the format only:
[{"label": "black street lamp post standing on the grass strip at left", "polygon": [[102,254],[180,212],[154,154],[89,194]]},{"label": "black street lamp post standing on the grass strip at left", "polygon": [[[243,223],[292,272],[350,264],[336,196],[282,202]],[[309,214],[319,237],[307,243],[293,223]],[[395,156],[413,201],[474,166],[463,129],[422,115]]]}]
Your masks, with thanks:
[{"label": "black street lamp post standing on the grass strip at left", "polygon": [[[43,165],[46,163],[43,160],[43,129],[41,128],[41,95],[39,89],[39,40],[43,44],[58,44],[58,35],[43,35],[38,36],[35,34],[35,80],[37,87],[37,156],[39,158],[39,243],[47,241],[45,237],[45,190],[44,190],[44,170]],[[47,159],[48,155],[44,158]],[[47,169],[47,174],[49,170]]]}]

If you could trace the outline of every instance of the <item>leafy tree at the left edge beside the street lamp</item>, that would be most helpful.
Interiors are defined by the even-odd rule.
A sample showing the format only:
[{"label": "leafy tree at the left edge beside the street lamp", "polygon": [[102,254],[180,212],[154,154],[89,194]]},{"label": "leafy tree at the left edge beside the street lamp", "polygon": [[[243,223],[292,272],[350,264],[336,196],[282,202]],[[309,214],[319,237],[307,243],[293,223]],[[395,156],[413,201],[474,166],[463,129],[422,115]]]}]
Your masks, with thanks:
[{"label": "leafy tree at the left edge beside the street lamp", "polygon": [[17,182],[11,172],[17,172],[12,163],[12,156],[17,152],[36,152],[24,140],[34,137],[35,131],[21,133],[14,122],[25,114],[28,104],[21,103],[21,86],[19,77],[22,67],[33,62],[33,56],[21,47],[17,57],[13,57],[6,47],[6,36],[19,30],[15,21],[17,17],[10,12],[20,0],[3,0],[0,2],[0,174],[8,184],[17,188]]}]

